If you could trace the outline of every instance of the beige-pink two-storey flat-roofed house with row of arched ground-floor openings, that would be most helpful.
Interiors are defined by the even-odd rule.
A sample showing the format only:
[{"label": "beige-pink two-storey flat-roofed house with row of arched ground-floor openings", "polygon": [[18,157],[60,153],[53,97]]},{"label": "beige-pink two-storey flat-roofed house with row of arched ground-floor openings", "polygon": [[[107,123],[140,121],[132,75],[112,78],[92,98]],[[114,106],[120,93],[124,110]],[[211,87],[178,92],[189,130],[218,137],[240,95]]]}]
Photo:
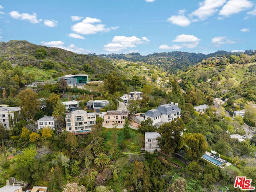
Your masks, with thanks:
[{"label": "beige-pink two-storey flat-roofed house with row of arched ground-floor openings", "polygon": [[102,126],[112,128],[116,123],[118,128],[123,128],[125,118],[128,118],[128,111],[107,111]]}]

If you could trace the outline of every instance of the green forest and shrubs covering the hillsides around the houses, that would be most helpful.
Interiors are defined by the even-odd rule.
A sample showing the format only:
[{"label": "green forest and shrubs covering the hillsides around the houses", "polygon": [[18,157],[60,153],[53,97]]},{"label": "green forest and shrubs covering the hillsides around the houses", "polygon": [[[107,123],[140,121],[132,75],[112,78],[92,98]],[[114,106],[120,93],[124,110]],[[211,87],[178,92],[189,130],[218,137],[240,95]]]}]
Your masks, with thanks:
[{"label": "green forest and shrubs covering the hillsides around the houses", "polygon": [[[180,57],[182,52],[157,53],[152,55],[161,62],[148,62],[152,57],[139,59],[135,53],[102,60],[26,41],[0,44],[3,47],[0,102],[22,110],[9,118],[10,130],[0,125],[1,187],[15,177],[24,189],[46,186],[54,192],[236,192],[236,176],[246,176],[256,186],[256,136],[248,137],[256,120],[255,51],[190,54],[189,59],[166,61],[162,57]],[[98,82],[80,89],[57,81],[59,76],[80,73]],[[31,86],[39,81],[44,83]],[[79,109],[90,112],[86,102],[91,98],[109,100],[105,110],[116,110],[120,96],[131,91],[143,92],[143,99],[128,104],[130,114],[174,102],[182,110],[181,118],[159,128],[145,119],[135,130],[130,118],[124,128],[104,128],[97,117],[90,134],[66,131],[63,101],[80,100]],[[214,98],[223,104],[214,105]],[[203,104],[209,108],[194,110]],[[243,118],[233,116],[242,109]],[[36,121],[44,115],[54,116],[54,130],[38,130]],[[141,152],[145,132],[161,135],[160,152]],[[230,134],[246,139],[239,142]],[[216,151],[232,165],[209,163],[201,158],[206,151]]]}]

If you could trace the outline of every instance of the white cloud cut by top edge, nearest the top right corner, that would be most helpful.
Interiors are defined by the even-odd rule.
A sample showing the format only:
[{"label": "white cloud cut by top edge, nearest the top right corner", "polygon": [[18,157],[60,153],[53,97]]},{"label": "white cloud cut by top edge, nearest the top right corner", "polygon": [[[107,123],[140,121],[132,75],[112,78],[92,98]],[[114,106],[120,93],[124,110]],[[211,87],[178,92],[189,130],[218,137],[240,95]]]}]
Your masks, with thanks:
[{"label": "white cloud cut by top edge, nearest the top right corner", "polygon": [[220,15],[229,17],[232,14],[252,8],[253,3],[248,0],[229,0],[220,10]]}]

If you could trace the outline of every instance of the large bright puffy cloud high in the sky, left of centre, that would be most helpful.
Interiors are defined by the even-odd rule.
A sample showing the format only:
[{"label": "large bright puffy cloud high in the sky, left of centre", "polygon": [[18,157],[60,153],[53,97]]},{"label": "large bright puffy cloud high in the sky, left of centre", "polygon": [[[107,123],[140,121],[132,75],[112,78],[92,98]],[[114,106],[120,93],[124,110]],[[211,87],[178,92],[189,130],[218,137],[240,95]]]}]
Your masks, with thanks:
[{"label": "large bright puffy cloud high in the sky, left of centre", "polygon": [[98,32],[108,32],[117,27],[106,28],[104,24],[94,24],[100,23],[100,19],[86,17],[82,22],[76,23],[71,27],[71,30],[83,35],[96,34]]}]

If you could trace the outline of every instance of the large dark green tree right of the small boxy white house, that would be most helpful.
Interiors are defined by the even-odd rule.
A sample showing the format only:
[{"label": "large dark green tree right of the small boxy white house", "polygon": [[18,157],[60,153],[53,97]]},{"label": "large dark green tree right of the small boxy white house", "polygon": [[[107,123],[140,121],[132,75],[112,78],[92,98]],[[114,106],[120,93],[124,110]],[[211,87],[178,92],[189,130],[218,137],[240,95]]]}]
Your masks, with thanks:
[{"label": "large dark green tree right of the small boxy white house", "polygon": [[184,138],[182,137],[184,129],[185,125],[181,118],[178,118],[176,122],[172,120],[162,124],[157,130],[161,135],[158,138],[161,151],[168,155],[179,151],[184,146]]}]

